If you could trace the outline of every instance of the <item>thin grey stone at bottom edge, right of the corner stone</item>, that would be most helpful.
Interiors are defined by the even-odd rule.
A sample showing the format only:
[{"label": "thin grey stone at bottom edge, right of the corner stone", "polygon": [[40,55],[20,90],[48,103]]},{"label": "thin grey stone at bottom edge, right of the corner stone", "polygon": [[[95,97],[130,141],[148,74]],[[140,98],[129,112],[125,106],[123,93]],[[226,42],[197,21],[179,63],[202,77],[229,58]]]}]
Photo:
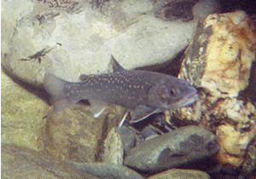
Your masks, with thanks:
[{"label": "thin grey stone at bottom edge, right of the corner stone", "polygon": [[69,162],[69,164],[75,166],[78,170],[90,173],[100,178],[120,178],[120,179],[143,179],[144,177],[139,175],[136,171],[129,169],[123,165],[111,164],[111,163],[76,163]]}]

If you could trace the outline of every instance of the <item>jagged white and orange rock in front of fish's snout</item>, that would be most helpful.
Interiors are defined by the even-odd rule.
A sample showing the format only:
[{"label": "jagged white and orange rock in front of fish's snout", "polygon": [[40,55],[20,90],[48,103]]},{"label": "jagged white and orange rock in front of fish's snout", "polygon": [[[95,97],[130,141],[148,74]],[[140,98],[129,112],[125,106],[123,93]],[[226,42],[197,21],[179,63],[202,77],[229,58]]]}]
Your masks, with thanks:
[{"label": "jagged white and orange rock in front of fish's snout", "polygon": [[256,136],[254,31],[243,11],[209,15],[195,32],[179,74],[198,87],[200,99],[172,115],[215,131],[223,164],[240,166]]}]

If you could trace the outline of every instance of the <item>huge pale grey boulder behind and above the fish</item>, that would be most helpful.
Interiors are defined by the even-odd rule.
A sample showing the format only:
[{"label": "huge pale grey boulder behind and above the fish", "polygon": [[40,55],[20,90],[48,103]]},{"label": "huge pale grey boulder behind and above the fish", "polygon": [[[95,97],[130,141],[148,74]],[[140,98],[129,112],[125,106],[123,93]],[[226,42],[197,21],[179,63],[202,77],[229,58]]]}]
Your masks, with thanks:
[{"label": "huge pale grey boulder behind and above the fish", "polygon": [[189,44],[198,20],[214,12],[214,4],[3,1],[2,64],[35,85],[45,72],[71,81],[81,73],[107,72],[110,55],[127,69],[160,64]]}]

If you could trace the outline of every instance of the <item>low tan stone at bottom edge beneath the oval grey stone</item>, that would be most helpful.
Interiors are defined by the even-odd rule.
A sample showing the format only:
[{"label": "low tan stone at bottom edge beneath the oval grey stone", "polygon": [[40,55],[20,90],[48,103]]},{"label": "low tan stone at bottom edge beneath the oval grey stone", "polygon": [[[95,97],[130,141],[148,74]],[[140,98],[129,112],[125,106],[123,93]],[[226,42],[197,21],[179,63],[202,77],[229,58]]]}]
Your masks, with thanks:
[{"label": "low tan stone at bottom edge beneath the oval grey stone", "polygon": [[148,179],[210,179],[206,172],[201,170],[183,170],[183,169],[172,169],[166,170],[154,176],[149,176]]}]

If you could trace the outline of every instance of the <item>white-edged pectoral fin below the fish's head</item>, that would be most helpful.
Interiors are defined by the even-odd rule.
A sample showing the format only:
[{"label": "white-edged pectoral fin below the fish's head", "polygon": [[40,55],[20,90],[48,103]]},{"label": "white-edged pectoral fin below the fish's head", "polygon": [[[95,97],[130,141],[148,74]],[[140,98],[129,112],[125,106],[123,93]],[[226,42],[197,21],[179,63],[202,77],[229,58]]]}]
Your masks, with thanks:
[{"label": "white-edged pectoral fin below the fish's head", "polygon": [[146,106],[138,106],[136,109],[131,113],[132,118],[130,123],[137,123],[145,118],[148,118],[151,114],[160,113],[161,110],[158,108],[146,107]]}]

